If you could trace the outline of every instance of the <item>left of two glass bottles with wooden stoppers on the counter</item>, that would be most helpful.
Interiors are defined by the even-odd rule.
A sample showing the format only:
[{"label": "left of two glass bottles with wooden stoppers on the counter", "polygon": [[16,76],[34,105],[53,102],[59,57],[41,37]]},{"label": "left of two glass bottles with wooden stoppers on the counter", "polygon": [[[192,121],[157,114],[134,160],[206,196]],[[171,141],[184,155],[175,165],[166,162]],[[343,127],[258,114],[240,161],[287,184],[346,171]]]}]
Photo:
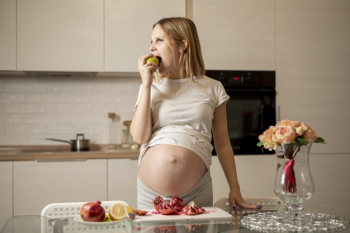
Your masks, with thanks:
[{"label": "left of two glass bottles with wooden stoppers on the counter", "polygon": [[109,143],[107,149],[117,149],[122,144],[122,130],[115,113],[108,113]]}]

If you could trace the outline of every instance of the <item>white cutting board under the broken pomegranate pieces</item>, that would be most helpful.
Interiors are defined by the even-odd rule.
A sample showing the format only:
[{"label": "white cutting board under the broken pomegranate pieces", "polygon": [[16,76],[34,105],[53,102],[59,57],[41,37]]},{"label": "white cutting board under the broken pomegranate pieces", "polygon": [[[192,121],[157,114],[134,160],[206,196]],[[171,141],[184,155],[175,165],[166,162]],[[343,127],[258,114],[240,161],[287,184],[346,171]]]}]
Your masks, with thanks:
[{"label": "white cutting board under the broken pomegranate pieces", "polygon": [[136,216],[135,222],[173,222],[173,221],[200,221],[214,219],[232,219],[232,215],[218,207],[204,207],[207,211],[198,215],[162,215],[152,214],[156,210],[149,210],[145,216]]}]

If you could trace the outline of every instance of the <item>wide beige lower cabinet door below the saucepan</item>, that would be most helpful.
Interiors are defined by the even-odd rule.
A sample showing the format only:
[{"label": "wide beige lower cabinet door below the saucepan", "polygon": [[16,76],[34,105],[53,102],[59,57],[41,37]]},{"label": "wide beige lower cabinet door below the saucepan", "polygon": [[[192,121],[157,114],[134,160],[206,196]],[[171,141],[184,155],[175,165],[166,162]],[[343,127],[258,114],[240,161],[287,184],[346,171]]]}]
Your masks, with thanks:
[{"label": "wide beige lower cabinet door below the saucepan", "polygon": [[14,162],[14,216],[56,202],[107,200],[107,160]]}]

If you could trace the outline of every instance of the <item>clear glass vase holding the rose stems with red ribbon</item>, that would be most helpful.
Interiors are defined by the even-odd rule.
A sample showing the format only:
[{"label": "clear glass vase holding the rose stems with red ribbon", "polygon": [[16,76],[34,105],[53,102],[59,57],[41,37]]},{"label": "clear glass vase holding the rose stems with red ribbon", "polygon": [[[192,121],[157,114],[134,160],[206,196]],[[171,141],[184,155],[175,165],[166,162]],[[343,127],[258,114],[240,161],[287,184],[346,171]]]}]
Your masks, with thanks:
[{"label": "clear glass vase holding the rose stems with red ribbon", "polygon": [[276,150],[277,171],[274,183],[276,196],[287,204],[291,221],[297,221],[303,203],[315,192],[309,166],[312,142],[307,145],[280,144]]}]

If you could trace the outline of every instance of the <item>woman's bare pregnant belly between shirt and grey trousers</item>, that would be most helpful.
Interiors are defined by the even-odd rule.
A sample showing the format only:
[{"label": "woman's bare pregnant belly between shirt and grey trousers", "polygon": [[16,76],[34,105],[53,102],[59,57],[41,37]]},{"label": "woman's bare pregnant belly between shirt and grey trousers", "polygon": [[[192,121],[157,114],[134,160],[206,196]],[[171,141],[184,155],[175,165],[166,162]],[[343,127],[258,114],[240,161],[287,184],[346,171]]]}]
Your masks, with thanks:
[{"label": "woman's bare pregnant belly between shirt and grey trousers", "polygon": [[149,189],[173,196],[190,191],[206,171],[204,161],[192,151],[179,146],[156,145],[143,155],[139,179]]}]

